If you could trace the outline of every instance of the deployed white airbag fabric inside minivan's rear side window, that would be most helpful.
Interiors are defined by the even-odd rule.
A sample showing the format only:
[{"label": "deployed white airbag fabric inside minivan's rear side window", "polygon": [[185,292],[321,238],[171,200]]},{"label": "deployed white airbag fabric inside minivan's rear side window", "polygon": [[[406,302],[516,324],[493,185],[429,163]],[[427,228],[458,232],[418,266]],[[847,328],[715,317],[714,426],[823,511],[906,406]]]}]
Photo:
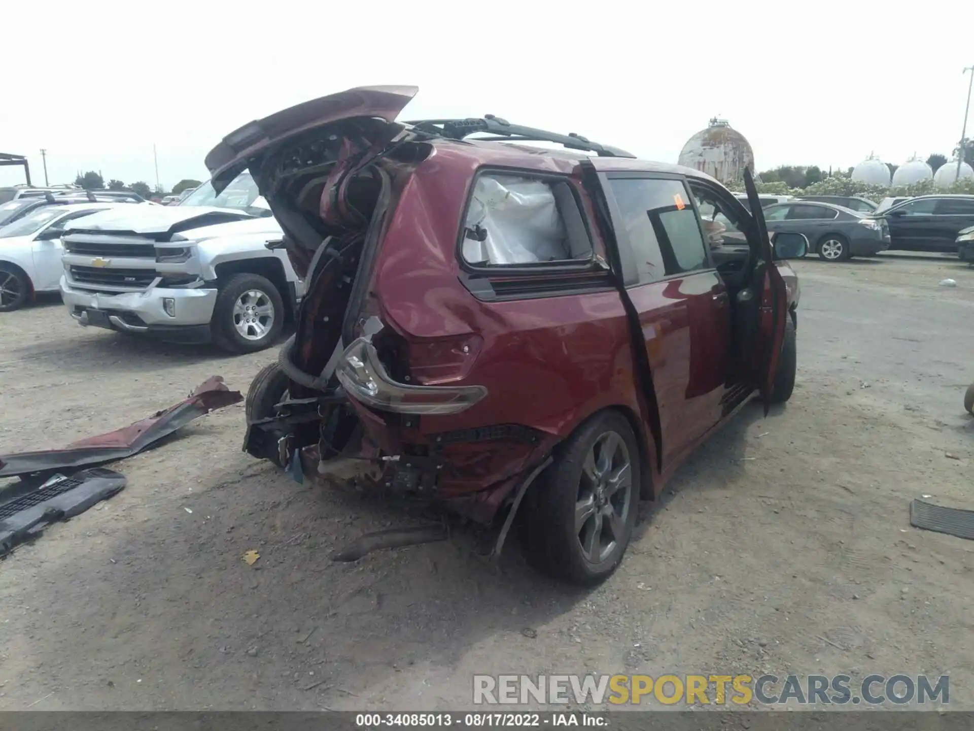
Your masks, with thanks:
[{"label": "deployed white airbag fabric inside minivan's rear side window", "polygon": [[[467,213],[470,263],[530,264],[570,259],[565,224],[551,188],[516,175],[481,175]],[[484,241],[470,238],[486,234]]]}]

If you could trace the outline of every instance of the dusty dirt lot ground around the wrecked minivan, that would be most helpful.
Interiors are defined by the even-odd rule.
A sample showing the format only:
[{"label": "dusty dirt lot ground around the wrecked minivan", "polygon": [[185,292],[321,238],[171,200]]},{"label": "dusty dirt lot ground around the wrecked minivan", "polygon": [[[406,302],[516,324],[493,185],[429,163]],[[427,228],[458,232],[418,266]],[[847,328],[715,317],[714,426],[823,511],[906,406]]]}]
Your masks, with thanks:
[{"label": "dusty dirt lot ground around the wrecked minivan", "polygon": [[[603,586],[543,579],[516,543],[495,574],[468,529],[333,563],[402,514],[247,457],[239,405],[0,563],[0,710],[463,709],[472,673],[586,671],[951,673],[974,708],[974,544],[908,522],[921,494],[974,507],[974,270],[796,268],[794,398],[704,445]],[[0,316],[0,451],[122,426],[213,373],[244,390],[275,357],[82,329],[56,303]]]}]

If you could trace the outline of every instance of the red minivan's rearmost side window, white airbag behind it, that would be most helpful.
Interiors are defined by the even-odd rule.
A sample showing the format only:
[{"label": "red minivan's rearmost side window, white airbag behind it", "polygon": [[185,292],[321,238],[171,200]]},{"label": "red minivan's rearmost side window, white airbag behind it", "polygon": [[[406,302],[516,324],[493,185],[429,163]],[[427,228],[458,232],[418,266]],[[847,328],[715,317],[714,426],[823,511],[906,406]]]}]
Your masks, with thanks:
[{"label": "red minivan's rearmost side window, white airbag behind it", "polygon": [[468,264],[482,267],[592,257],[570,183],[502,173],[477,177],[461,249]]}]

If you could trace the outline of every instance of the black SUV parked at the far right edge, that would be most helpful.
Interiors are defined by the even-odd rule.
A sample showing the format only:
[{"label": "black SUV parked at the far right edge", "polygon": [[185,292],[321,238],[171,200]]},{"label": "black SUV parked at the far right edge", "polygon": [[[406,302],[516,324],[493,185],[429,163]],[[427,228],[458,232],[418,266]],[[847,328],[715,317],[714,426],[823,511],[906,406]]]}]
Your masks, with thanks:
[{"label": "black SUV parked at the far right edge", "polygon": [[974,195],[911,198],[882,213],[889,223],[891,250],[957,250],[957,234],[974,225]]}]

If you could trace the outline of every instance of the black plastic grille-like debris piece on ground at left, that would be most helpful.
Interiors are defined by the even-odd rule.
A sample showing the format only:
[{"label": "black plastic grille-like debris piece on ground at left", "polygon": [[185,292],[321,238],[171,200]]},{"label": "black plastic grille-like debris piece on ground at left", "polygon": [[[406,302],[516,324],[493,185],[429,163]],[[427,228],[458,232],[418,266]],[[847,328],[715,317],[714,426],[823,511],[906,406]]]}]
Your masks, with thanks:
[{"label": "black plastic grille-like debris piece on ground at left", "polygon": [[38,535],[47,525],[84,513],[125,483],[124,475],[95,467],[70,478],[57,476],[0,504],[0,556]]}]

